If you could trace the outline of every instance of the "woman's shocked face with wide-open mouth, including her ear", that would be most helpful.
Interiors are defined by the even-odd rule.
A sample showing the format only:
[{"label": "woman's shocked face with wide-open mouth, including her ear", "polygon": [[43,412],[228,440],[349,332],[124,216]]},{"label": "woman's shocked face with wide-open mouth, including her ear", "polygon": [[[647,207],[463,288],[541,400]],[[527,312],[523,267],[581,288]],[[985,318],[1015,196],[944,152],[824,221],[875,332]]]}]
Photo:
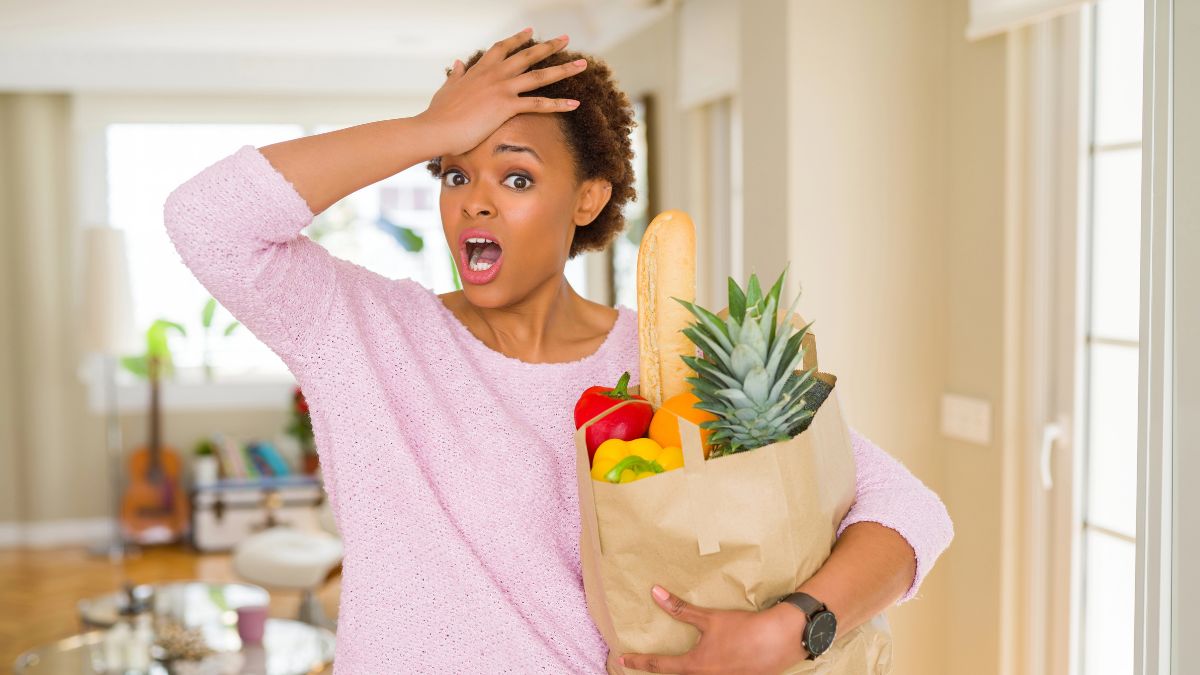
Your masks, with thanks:
[{"label": "woman's shocked face with wide-open mouth, including her ear", "polygon": [[442,157],[442,226],[463,293],[475,306],[502,307],[560,279],[575,227],[589,225],[611,185],[577,184],[558,120],[510,118],[463,155]]}]

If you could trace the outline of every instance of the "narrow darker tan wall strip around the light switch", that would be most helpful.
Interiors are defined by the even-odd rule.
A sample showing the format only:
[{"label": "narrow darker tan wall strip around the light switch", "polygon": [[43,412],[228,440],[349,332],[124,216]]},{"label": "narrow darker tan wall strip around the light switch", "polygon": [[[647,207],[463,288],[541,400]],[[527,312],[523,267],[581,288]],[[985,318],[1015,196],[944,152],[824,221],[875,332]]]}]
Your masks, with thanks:
[{"label": "narrow darker tan wall strip around the light switch", "polygon": [[[949,174],[946,183],[946,389],[992,402],[1003,419],[1004,127],[1003,37],[967,43],[965,0],[950,2]],[[946,556],[947,673],[998,673],[1001,476],[1004,440],[986,448],[943,441],[947,508],[958,530]]]}]

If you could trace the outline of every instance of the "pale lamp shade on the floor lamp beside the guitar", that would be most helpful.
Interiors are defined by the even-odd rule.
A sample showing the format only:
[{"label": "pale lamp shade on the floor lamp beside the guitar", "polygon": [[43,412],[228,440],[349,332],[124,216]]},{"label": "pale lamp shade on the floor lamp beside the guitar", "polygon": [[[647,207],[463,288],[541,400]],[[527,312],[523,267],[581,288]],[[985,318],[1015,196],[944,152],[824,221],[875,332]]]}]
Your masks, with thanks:
[{"label": "pale lamp shade on the floor lamp beside the guitar", "polygon": [[84,229],[83,347],[112,356],[140,353],[144,339],[133,325],[133,293],[125,256],[125,232]]}]

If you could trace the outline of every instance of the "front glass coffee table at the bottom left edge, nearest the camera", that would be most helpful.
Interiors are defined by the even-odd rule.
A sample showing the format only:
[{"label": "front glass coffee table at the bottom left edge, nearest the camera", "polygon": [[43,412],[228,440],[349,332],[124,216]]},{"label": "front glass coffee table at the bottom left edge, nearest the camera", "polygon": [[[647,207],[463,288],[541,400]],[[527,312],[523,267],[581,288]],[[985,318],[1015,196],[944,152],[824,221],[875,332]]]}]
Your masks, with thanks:
[{"label": "front glass coffee table at the bottom left edge, nearest the camera", "polygon": [[[299,621],[268,619],[262,646],[244,647],[235,628],[216,643],[216,653],[172,669],[152,663],[148,675],[306,675],[332,671],[334,633]],[[89,631],[43,645],[17,657],[18,675],[104,675],[104,631]]]}]

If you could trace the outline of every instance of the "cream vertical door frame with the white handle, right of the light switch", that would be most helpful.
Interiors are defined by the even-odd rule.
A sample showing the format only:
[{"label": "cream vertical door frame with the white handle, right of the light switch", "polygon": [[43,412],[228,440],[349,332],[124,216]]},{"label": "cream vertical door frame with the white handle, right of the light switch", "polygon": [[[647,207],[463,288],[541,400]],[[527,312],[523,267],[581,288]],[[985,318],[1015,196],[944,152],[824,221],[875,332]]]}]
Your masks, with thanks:
[{"label": "cream vertical door frame with the white handle, right of the light switch", "polygon": [[[1080,217],[1086,32],[1069,13],[1008,32],[1000,671],[1069,673],[1081,587]],[[1070,583],[1063,583],[1067,571]]]}]

